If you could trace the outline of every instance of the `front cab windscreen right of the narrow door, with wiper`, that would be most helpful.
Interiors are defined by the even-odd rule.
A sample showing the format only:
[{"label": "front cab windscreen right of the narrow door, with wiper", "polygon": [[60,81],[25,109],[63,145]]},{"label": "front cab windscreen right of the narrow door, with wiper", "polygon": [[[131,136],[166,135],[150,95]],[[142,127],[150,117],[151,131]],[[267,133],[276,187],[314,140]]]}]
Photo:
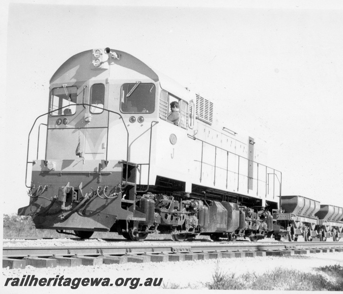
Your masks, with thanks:
[{"label": "front cab windscreen right of the narrow door, with wiper", "polygon": [[156,87],[152,83],[129,83],[121,87],[120,110],[123,113],[152,113]]}]

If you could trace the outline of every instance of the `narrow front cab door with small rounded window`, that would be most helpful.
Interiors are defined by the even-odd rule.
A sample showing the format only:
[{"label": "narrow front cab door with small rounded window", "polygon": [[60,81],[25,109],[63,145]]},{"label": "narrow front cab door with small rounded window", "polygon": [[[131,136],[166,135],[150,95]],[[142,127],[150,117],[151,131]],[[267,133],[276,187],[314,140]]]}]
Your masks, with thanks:
[{"label": "narrow front cab door with small rounded window", "polygon": [[108,132],[108,84],[101,81],[89,82],[88,104],[85,113],[85,154],[93,159],[104,159]]}]

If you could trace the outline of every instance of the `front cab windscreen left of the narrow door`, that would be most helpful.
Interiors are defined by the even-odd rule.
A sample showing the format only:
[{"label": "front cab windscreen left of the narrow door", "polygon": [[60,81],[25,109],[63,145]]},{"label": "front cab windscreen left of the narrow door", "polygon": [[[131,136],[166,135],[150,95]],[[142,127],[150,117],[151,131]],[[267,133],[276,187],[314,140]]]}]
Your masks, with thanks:
[{"label": "front cab windscreen left of the narrow door", "polygon": [[51,91],[51,115],[73,115],[76,112],[78,89],[72,87],[54,88]]}]

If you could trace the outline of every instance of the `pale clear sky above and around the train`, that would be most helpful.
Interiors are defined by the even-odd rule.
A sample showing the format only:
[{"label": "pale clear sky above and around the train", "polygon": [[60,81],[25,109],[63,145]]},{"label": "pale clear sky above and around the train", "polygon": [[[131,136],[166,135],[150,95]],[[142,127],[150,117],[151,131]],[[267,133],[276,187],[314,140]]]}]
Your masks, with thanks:
[{"label": "pale clear sky above and around the train", "polygon": [[47,112],[51,76],[72,55],[106,47],[211,99],[229,129],[266,141],[268,165],[283,172],[283,195],[343,207],[340,1],[38,0],[1,6],[3,213],[29,203],[28,134]]}]

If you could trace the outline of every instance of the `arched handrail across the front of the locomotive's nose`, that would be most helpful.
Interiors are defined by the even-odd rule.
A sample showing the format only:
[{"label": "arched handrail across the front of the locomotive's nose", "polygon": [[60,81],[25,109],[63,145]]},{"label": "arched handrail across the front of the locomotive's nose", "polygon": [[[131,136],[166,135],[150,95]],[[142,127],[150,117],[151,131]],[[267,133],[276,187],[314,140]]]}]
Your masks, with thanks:
[{"label": "arched handrail across the front of the locomotive's nose", "polygon": [[[124,120],[123,120],[122,115],[121,115],[120,113],[118,113],[118,112],[115,112],[115,111],[112,111],[112,110],[109,110],[109,109],[105,109],[105,108],[103,108],[103,107],[98,107],[98,106],[95,106],[95,105],[90,105],[90,104],[88,104],[88,103],[75,103],[74,105],[75,105],[75,106],[78,106],[78,105],[92,106],[92,107],[95,107],[95,108],[103,109],[103,110],[105,110],[105,111],[107,111],[107,112],[111,112],[111,113],[117,114],[117,115],[120,117],[120,119],[122,120],[122,122],[123,122],[123,124],[124,124],[124,126],[125,126],[126,132],[127,132],[127,146],[126,146],[126,182],[127,182],[127,177],[128,177],[128,173],[127,173],[127,172],[128,172],[128,161],[129,161],[129,160],[128,160],[128,159],[129,159],[129,131],[128,131],[127,126],[126,126],[126,124],[125,124],[125,122],[124,122]],[[43,116],[45,116],[45,115],[51,114],[51,113],[53,113],[53,112],[55,112],[55,111],[57,111],[57,110],[66,108],[66,107],[69,107],[69,105],[66,105],[66,106],[63,106],[63,107],[54,109],[54,110],[49,111],[49,112],[47,112],[47,113],[44,113],[44,114],[38,116],[38,117],[35,119],[34,123],[32,124],[32,127],[31,127],[31,129],[30,129],[30,131],[29,131],[29,136],[28,136],[28,150],[27,150],[27,156],[26,156],[25,186],[26,186],[27,188],[31,188],[31,186],[28,186],[28,185],[27,185],[27,180],[28,180],[28,164],[29,164],[29,163],[32,163],[32,161],[29,161],[29,144],[30,144],[30,136],[31,136],[31,132],[32,132],[32,130],[33,130],[33,127],[34,127],[34,125],[36,124],[36,122],[37,122],[37,120],[38,120],[39,118],[41,118],[41,117],[43,117]],[[106,141],[107,141],[107,144],[108,144],[108,138],[109,138],[109,124],[107,124],[107,127],[106,127],[106,128],[107,128]],[[108,147],[108,145],[107,145],[107,147]],[[106,149],[108,149],[108,148],[106,148]],[[106,150],[106,160],[105,160],[105,163],[106,163],[106,164],[108,163],[107,156],[108,156],[108,151]],[[45,155],[45,160],[46,160],[46,155]]]}]

